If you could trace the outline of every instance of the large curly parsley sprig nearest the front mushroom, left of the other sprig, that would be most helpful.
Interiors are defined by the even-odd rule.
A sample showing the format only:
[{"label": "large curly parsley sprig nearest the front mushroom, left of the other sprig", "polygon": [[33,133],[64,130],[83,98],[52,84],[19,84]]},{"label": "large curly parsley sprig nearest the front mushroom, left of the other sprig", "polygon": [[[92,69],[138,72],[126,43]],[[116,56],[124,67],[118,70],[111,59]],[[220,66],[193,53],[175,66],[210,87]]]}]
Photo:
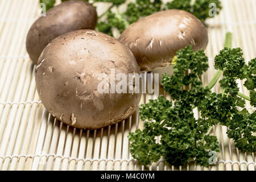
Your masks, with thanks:
[{"label": "large curly parsley sprig nearest the front mushroom, left of the other sprig", "polygon": [[[199,79],[208,69],[208,57],[204,51],[193,52],[192,47],[188,46],[177,52],[173,66],[174,74],[164,74],[162,79],[164,90],[171,95],[173,101],[160,96],[158,100],[151,100],[142,105],[139,111],[144,121],[144,129],[137,132],[140,136],[150,136],[151,144],[148,144],[148,147],[154,146],[153,139],[160,138],[160,143],[157,143],[160,146],[158,159],[162,156],[174,166],[181,166],[189,160],[209,166],[209,151],[219,150],[217,138],[206,135],[211,123],[202,118],[195,119],[192,113],[193,107],[202,105],[209,93],[209,89],[204,88]],[[188,85],[191,89],[184,90],[183,87]],[[142,164],[150,164],[152,160],[137,158],[142,154],[138,154],[141,150],[135,150],[134,146],[143,145],[145,140],[135,138],[136,132],[130,135],[133,135],[133,138],[129,138],[133,158]],[[143,153],[143,156],[150,151],[147,146],[144,146],[146,150],[143,151],[146,153]]]}]

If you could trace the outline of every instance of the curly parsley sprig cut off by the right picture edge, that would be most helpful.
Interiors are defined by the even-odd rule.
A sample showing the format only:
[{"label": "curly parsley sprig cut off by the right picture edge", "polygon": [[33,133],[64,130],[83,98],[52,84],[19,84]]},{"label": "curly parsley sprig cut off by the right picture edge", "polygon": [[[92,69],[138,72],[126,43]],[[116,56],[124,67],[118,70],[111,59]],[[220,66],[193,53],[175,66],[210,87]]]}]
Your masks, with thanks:
[{"label": "curly parsley sprig cut off by the right picture edge", "polygon": [[[245,64],[240,48],[224,48],[214,59],[215,68],[223,71],[220,80],[222,94],[212,93],[200,107],[202,117],[216,124],[227,126],[228,137],[233,139],[236,147],[243,152],[256,151],[256,118],[254,113],[245,109],[245,100],[238,93],[236,80],[246,79],[245,86],[250,90],[250,102],[255,106],[255,59]],[[240,110],[238,107],[241,107]]]}]

